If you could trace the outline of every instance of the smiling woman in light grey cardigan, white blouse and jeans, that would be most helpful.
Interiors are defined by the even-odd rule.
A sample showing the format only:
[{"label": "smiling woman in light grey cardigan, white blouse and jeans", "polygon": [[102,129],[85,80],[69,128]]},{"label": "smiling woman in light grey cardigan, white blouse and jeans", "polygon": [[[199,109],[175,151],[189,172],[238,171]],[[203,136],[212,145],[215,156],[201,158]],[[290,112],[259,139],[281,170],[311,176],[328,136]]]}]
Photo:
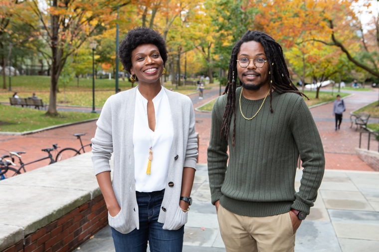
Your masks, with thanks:
[{"label": "smiling woman in light grey cardigan, white blouse and jeans", "polygon": [[146,252],[149,242],[152,252],[181,252],[197,157],[193,105],[161,85],[168,56],[157,31],[130,30],[119,55],[139,85],[108,98],[91,140],[115,249]]}]

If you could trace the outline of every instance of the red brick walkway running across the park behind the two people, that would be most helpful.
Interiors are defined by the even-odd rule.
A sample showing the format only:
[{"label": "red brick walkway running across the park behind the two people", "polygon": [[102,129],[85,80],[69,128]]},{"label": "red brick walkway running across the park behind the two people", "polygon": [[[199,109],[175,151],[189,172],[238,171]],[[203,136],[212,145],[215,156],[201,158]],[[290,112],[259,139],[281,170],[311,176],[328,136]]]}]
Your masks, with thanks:
[{"label": "red brick walkway running across the park behind the two people", "polygon": [[[223,89],[222,89],[223,90]],[[219,94],[218,88],[211,90],[204,90],[204,99],[199,100],[197,94],[190,95],[193,107],[198,107],[207,101],[217,97]],[[355,148],[359,145],[359,131],[355,128],[350,129],[349,113],[350,111],[359,108],[369,102],[377,100],[378,94],[376,92],[355,92],[355,95],[347,98],[346,112],[344,113],[344,120],[341,125],[340,131],[334,130],[334,117],[332,116],[333,103],[312,108],[311,112],[316,121],[319,129],[326,158],[326,169],[341,169],[341,170],[360,170],[360,171],[373,171],[367,164],[360,160],[355,155]],[[206,150],[209,145],[210,135],[210,113],[195,111],[196,119],[196,132],[199,133],[199,163],[206,163]],[[378,119],[371,120],[378,122]],[[86,133],[82,138],[84,144],[90,143],[96,130],[96,122],[89,122],[84,124],[77,124],[48,130],[27,136],[3,136],[0,135],[0,148],[12,151],[26,151],[22,155],[24,163],[30,162],[42,157],[45,153],[41,151],[43,148],[50,148],[52,144],[57,143],[59,147],[73,147],[80,148],[80,143],[74,137],[73,133]],[[363,137],[362,147],[367,146],[367,135]],[[371,142],[371,150],[378,150],[378,141],[373,138]],[[87,147],[86,151],[90,151]],[[5,151],[0,150],[0,155],[6,154]],[[54,153],[55,157],[56,153]],[[36,169],[47,165],[47,160],[35,164],[28,165],[27,171]]]}]

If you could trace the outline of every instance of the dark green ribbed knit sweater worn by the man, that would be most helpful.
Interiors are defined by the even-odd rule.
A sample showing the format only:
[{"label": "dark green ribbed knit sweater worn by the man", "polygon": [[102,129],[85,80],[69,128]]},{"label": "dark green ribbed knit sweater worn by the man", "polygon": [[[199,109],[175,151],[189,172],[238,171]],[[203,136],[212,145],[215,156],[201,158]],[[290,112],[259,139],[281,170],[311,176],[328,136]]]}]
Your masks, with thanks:
[{"label": "dark green ribbed knit sweater worn by the man", "polygon": [[[239,111],[240,92],[241,87],[236,91],[234,147],[233,118],[228,141],[220,138],[227,95],[218,97],[213,106],[207,158],[212,204],[220,200],[222,207],[242,216],[273,216],[291,208],[309,214],[324,175],[325,157],[307,104],[298,94],[273,92],[274,112],[268,96],[258,115],[248,121]],[[262,101],[242,95],[243,114],[251,118]],[[304,170],[296,193],[299,154]]]}]

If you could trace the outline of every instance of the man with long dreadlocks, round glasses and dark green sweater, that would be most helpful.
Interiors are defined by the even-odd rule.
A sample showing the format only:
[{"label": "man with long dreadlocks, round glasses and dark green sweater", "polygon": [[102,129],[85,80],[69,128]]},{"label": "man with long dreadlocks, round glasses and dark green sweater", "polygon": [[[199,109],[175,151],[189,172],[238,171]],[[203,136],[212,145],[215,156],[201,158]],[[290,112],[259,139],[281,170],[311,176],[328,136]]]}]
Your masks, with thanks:
[{"label": "man with long dreadlocks, round glasses and dark green sweater", "polygon": [[[208,147],[211,201],[227,252],[294,251],[325,167],[302,96],[282,47],[265,33],[247,31],[232,50],[224,95],[214,103]],[[299,154],[304,170],[296,192]]]}]

